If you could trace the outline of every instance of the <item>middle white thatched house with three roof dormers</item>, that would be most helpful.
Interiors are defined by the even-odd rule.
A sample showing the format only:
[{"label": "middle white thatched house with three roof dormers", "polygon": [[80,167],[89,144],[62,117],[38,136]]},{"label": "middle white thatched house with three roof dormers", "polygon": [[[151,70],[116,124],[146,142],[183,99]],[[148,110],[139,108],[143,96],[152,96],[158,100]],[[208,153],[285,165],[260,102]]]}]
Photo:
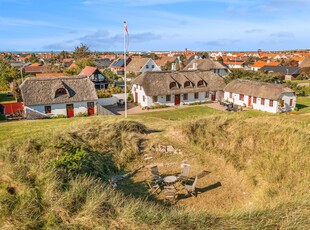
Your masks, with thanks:
[{"label": "middle white thatched house with three roof dormers", "polygon": [[142,107],[216,101],[223,97],[225,82],[211,71],[145,72],[133,80],[134,102]]}]

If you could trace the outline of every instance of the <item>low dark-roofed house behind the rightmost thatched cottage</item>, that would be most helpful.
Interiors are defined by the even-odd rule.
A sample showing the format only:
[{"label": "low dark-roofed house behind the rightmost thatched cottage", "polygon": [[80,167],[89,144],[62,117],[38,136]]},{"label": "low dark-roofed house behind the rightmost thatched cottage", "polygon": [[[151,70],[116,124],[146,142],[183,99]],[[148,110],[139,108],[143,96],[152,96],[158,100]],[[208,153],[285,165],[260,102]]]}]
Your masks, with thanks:
[{"label": "low dark-roofed house behind the rightmost thatched cottage", "polygon": [[260,69],[267,73],[278,73],[284,80],[294,80],[301,73],[301,69],[295,66],[269,66],[266,65]]}]

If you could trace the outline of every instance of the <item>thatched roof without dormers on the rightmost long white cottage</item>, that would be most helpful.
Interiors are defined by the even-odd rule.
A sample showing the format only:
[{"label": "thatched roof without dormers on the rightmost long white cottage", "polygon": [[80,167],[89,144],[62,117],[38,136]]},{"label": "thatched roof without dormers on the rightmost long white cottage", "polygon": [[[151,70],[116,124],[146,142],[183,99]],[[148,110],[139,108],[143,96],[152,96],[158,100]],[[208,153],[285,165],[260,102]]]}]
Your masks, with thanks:
[{"label": "thatched roof without dormers on the rightmost long white cottage", "polygon": [[294,93],[292,89],[284,87],[280,84],[241,79],[230,82],[228,85],[226,85],[224,91],[271,100],[278,100],[280,95],[283,93]]}]

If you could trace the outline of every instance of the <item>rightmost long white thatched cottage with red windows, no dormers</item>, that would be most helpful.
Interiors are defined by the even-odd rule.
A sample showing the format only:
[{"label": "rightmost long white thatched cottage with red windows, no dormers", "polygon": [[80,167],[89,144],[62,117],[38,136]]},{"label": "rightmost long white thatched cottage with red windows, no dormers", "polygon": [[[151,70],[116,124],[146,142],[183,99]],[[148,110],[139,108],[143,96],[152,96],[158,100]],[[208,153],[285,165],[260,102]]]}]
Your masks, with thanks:
[{"label": "rightmost long white thatched cottage with red windows, no dormers", "polygon": [[234,80],[224,88],[224,100],[270,113],[294,110],[295,92],[283,85]]}]

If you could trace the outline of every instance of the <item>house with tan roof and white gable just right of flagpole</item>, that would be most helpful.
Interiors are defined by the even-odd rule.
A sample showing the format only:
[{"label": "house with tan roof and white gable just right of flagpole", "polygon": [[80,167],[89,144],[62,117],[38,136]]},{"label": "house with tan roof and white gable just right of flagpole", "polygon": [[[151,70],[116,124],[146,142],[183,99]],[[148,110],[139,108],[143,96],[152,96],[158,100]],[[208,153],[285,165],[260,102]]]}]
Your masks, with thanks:
[{"label": "house with tan roof and white gable just right of flagpole", "polygon": [[134,58],[126,68],[127,73],[140,74],[147,71],[161,71],[151,58]]}]

